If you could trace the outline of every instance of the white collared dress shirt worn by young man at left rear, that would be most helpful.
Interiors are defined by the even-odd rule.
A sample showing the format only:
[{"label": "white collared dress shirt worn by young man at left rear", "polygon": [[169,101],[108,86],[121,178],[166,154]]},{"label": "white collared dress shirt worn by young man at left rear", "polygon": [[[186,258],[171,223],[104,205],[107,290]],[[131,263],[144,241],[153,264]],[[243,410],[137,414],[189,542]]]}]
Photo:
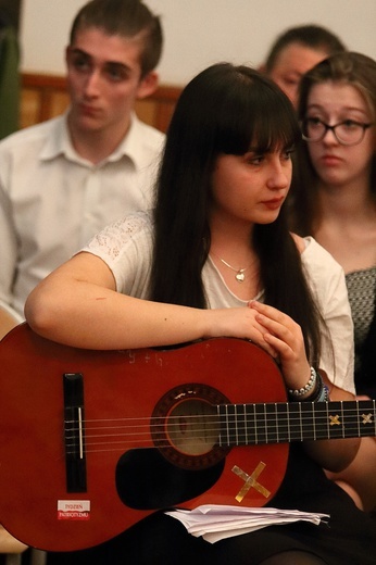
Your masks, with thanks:
[{"label": "white collared dress shirt worn by young man at left rear", "polygon": [[133,115],[123,142],[93,165],[64,114],[0,143],[0,300],[23,314],[33,288],[120,216],[152,205],[164,135]]}]

